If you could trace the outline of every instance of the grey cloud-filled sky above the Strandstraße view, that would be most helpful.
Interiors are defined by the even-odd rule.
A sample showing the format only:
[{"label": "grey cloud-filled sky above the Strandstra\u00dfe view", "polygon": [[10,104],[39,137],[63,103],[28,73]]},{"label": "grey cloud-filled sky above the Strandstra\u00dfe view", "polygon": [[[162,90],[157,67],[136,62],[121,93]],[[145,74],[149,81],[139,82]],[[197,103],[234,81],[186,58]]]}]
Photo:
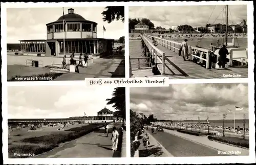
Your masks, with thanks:
[{"label": "grey cloud-filled sky above the Strandstra\u00dfe view", "polygon": [[[130,88],[130,109],[164,120],[248,119],[248,84],[170,84],[169,87]],[[228,112],[230,109],[231,112]]]}]

